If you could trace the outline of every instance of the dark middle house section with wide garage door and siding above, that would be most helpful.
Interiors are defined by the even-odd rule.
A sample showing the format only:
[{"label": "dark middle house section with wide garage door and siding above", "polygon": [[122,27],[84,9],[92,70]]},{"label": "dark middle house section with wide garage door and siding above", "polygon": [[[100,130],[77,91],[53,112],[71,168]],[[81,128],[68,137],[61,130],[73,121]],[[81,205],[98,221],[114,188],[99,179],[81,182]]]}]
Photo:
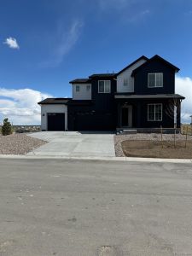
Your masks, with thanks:
[{"label": "dark middle house section with wide garage door and siding above", "polygon": [[[98,93],[98,80],[111,81],[111,93]],[[116,80],[94,78],[91,81],[92,100],[90,106],[68,105],[69,131],[113,131],[116,129],[117,113],[114,100]],[[81,102],[81,101],[79,101]]]}]

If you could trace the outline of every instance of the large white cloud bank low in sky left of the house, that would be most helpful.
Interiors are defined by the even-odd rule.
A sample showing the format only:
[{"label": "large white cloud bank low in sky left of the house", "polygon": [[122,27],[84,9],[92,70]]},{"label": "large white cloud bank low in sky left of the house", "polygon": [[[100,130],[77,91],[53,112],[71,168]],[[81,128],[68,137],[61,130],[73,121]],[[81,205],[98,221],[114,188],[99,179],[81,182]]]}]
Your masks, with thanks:
[{"label": "large white cloud bank low in sky left of the house", "polygon": [[14,125],[39,125],[40,106],[38,102],[51,97],[38,90],[8,90],[0,88],[0,123],[8,117]]}]

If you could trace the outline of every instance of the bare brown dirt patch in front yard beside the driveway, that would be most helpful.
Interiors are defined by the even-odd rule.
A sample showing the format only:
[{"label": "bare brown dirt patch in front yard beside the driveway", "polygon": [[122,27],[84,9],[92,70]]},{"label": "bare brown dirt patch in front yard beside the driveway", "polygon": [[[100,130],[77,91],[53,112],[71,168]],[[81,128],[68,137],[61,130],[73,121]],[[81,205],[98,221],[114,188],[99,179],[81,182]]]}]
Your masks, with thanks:
[{"label": "bare brown dirt patch in front yard beside the driveway", "polygon": [[150,158],[178,158],[192,159],[192,141],[177,141],[174,148],[173,141],[163,142],[163,148],[160,141],[128,141],[121,143],[125,156],[131,157],[150,157]]}]

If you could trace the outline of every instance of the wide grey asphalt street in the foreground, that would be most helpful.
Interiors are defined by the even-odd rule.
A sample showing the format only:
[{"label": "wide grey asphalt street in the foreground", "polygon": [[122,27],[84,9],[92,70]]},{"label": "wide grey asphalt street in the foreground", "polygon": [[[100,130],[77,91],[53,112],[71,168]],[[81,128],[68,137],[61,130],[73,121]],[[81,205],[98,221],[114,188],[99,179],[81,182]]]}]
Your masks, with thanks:
[{"label": "wide grey asphalt street in the foreground", "polygon": [[0,255],[192,255],[192,164],[0,159]]}]

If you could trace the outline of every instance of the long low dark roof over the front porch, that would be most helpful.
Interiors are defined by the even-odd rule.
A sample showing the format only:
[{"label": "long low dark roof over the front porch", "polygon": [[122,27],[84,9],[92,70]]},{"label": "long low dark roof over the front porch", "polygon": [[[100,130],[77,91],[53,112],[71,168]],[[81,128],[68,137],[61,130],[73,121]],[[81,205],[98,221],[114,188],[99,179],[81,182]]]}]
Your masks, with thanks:
[{"label": "long low dark roof over the front porch", "polygon": [[116,94],[116,99],[185,99],[185,97],[179,94],[148,94],[148,95],[136,95],[136,94]]}]

